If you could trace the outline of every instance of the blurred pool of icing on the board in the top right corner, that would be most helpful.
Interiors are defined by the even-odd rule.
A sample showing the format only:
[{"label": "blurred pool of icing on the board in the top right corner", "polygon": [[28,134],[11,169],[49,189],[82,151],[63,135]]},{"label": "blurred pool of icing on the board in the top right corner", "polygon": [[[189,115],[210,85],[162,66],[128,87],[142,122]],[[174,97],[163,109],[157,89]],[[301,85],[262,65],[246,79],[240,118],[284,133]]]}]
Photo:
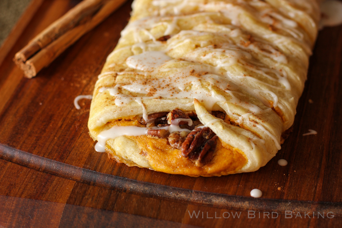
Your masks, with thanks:
[{"label": "blurred pool of icing on the board in the top right corner", "polygon": [[327,0],[321,3],[322,17],[320,27],[336,26],[342,24],[342,2]]}]

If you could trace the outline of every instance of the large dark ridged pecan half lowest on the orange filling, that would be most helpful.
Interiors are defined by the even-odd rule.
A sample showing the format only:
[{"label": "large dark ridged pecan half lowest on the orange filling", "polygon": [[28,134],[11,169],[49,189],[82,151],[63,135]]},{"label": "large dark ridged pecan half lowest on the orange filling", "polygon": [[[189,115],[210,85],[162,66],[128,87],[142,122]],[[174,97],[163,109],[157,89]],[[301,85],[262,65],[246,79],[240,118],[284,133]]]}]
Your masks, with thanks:
[{"label": "large dark ridged pecan half lowest on the orange filling", "polygon": [[204,166],[213,157],[217,138],[209,127],[196,128],[182,144],[182,155],[189,157],[196,166]]}]

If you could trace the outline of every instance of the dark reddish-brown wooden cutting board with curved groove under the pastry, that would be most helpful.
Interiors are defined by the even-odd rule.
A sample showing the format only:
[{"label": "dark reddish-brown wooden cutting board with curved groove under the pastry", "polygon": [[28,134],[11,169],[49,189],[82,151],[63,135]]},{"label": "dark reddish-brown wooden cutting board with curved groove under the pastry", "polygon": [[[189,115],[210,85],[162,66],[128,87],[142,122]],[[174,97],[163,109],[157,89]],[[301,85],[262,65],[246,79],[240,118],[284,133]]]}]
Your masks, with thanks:
[{"label": "dark reddish-brown wooden cutting board with curved groove under the pastry", "polygon": [[[36,78],[23,78],[12,62],[78,2],[33,0],[0,49],[0,227],[342,227],[342,26],[320,32],[293,132],[277,156],[256,172],[193,178],[95,152],[90,100],[74,107],[76,96],[92,94],[131,1]],[[318,134],[302,136],[309,129]],[[250,197],[253,188],[261,198]]]}]

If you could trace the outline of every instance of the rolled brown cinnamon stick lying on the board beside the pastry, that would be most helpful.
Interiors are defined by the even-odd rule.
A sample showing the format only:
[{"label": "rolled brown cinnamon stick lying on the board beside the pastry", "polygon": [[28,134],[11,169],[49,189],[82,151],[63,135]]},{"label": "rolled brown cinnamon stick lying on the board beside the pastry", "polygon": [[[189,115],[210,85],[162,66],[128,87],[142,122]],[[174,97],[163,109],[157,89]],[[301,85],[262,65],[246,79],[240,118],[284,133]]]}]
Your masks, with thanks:
[{"label": "rolled brown cinnamon stick lying on the board beside the pastry", "polygon": [[24,71],[25,77],[36,76],[125,1],[83,0],[16,53],[14,62]]}]

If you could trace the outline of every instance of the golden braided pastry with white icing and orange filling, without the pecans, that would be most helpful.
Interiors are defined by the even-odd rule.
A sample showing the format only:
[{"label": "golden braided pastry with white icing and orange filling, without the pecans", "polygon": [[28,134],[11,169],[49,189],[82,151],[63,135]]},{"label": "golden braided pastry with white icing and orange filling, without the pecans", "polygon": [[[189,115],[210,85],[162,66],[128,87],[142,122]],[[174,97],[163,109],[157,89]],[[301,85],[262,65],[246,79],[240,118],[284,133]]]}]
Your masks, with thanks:
[{"label": "golden braided pastry with white icing and orange filling, without the pecans", "polygon": [[[196,167],[166,139],[146,135],[107,140],[109,156],[191,176],[264,166],[294,122],[318,31],[317,2],[135,0],[132,6],[95,84],[91,137],[98,140],[118,120],[139,125],[136,116],[178,108],[195,111],[219,137],[210,164]],[[212,110],[233,124],[214,121]]]}]

